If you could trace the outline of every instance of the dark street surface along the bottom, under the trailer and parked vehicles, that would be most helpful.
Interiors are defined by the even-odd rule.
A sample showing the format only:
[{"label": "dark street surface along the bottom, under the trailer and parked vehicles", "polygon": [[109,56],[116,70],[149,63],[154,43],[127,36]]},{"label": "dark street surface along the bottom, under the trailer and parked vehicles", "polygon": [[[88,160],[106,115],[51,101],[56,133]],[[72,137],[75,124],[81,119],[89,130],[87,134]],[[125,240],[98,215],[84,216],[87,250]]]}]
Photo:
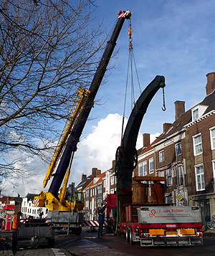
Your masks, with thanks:
[{"label": "dark street surface along the bottom, under the trailer and parked vehicles", "polygon": [[204,245],[202,247],[140,247],[138,244],[130,245],[125,242],[123,235],[104,234],[97,237],[97,232],[90,232],[83,228],[82,234],[68,234],[67,231],[56,232],[54,248],[47,247],[47,242],[41,242],[37,248],[31,247],[28,242],[21,242],[16,252],[11,250],[11,232],[0,232],[1,245],[0,255],[215,255],[215,232],[204,232]]}]

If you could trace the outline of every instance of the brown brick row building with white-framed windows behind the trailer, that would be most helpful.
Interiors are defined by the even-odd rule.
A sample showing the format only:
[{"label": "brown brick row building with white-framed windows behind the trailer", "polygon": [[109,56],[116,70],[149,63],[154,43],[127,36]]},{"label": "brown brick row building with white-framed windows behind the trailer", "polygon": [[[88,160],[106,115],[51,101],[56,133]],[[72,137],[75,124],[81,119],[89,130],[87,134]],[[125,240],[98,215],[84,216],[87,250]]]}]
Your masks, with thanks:
[{"label": "brown brick row building with white-framed windows behind the trailer", "polygon": [[166,177],[165,202],[198,205],[204,224],[215,214],[215,72],[206,77],[204,100],[187,111],[184,101],[175,102],[175,120],[139,150],[135,170],[138,176]]}]

